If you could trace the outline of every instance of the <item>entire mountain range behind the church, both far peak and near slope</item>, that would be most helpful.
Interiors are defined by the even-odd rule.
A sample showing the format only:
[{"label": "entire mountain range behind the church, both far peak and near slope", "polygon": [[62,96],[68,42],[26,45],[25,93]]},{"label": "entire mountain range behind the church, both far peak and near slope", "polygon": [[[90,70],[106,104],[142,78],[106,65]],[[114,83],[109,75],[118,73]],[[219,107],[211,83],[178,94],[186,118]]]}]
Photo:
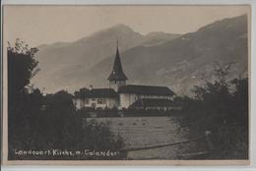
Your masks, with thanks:
[{"label": "entire mountain range behind the church, both far peak and near slope", "polygon": [[217,63],[232,63],[228,79],[248,74],[247,17],[238,16],[174,37],[164,32],[141,35],[118,25],[76,42],[44,45],[40,53],[48,56],[37,56],[44,72],[34,85],[53,92],[107,87],[116,37],[128,84],[167,85],[178,94],[190,94],[194,85],[214,79]]}]

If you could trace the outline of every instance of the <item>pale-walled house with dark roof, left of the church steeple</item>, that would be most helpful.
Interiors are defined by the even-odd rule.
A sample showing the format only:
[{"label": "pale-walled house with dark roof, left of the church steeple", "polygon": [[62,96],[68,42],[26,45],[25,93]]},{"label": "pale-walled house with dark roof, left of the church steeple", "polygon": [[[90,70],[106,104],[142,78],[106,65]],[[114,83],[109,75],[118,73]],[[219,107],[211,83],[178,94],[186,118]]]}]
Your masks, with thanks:
[{"label": "pale-walled house with dark roof, left of the church steeple", "polygon": [[119,96],[112,88],[82,88],[73,99],[77,109],[118,107]]}]

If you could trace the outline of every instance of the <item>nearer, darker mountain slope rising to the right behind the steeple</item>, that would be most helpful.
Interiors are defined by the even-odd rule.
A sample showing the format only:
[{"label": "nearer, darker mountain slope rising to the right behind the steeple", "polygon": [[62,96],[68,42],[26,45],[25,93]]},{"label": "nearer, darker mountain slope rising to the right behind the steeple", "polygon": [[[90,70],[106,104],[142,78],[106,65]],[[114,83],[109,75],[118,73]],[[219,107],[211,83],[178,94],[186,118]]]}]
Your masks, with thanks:
[{"label": "nearer, darker mountain slope rising to the right behind the steeple", "polygon": [[[178,94],[190,94],[194,85],[214,79],[218,64],[232,63],[228,79],[248,74],[247,40],[247,17],[239,16],[159,45],[131,48],[121,53],[121,60],[129,84],[167,85]],[[105,58],[79,81],[106,86],[113,59]]]}]

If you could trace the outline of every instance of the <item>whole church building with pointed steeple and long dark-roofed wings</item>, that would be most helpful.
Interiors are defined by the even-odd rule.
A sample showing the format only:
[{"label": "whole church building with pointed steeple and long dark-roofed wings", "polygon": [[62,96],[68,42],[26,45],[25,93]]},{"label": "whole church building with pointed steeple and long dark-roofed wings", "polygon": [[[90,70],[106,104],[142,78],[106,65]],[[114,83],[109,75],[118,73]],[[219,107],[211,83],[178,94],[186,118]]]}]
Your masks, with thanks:
[{"label": "whole church building with pointed steeple and long dark-roofed wings", "polygon": [[107,78],[109,87],[81,88],[75,92],[74,104],[77,109],[159,109],[170,110],[173,106],[175,93],[167,86],[155,85],[126,85],[128,80],[125,75],[118,44],[112,71]]}]

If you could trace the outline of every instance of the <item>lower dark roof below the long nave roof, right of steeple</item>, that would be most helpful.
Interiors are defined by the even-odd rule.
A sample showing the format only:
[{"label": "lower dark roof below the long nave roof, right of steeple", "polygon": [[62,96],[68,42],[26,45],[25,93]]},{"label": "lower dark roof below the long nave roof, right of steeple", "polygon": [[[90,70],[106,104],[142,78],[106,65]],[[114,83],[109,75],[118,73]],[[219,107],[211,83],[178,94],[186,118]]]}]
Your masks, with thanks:
[{"label": "lower dark roof below the long nave roof, right of steeple", "polygon": [[159,98],[142,98],[135,101],[129,106],[129,108],[134,107],[172,107],[174,106],[173,101],[169,99],[159,99]]}]

